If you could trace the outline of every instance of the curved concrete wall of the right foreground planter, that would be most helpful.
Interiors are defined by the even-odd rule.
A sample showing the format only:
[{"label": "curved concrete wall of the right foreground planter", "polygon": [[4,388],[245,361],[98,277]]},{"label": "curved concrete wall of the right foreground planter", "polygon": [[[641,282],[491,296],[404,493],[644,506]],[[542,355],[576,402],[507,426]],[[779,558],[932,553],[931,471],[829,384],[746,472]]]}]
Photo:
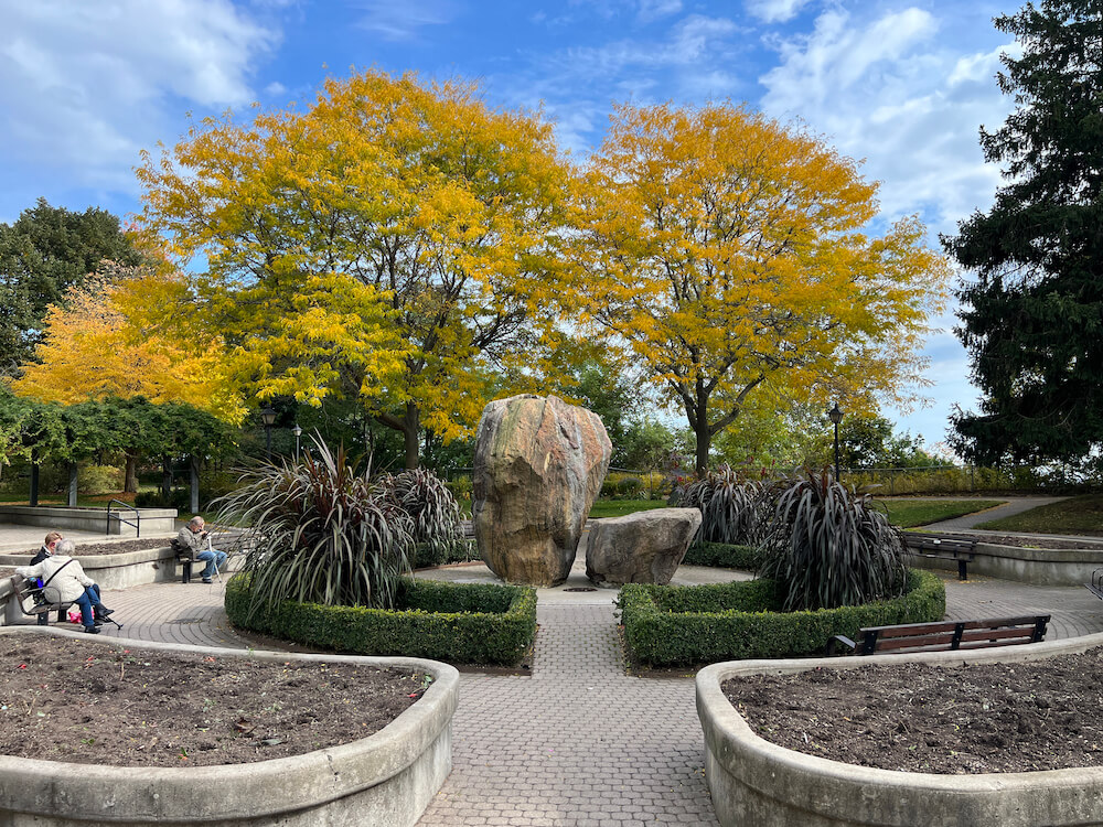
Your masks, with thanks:
[{"label": "curved concrete wall of the right foreground planter", "polygon": [[720,690],[731,677],[924,662],[1036,660],[1103,645],[1103,634],[1002,649],[714,664],[697,674],[705,775],[724,827],[1065,827],[1103,825],[1103,769],[934,775],[855,766],[786,750],[756,735]]}]

